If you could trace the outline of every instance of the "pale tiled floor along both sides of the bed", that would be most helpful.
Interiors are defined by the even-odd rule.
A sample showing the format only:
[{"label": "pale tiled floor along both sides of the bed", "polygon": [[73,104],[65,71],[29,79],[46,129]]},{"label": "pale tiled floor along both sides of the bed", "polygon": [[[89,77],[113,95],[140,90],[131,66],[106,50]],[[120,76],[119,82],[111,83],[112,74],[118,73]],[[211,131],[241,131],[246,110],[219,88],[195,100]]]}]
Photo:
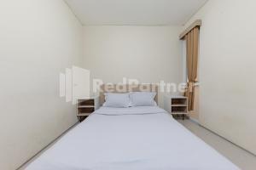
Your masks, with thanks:
[{"label": "pale tiled floor along both sides of the bed", "polygon": [[[179,121],[184,127],[187,127],[192,133],[204,140],[207,144],[211,145],[212,148],[218,150],[223,156],[227,157],[230,161],[240,167],[241,170],[256,170],[256,156],[253,156],[246,150],[242,150],[235,144],[219,137],[215,133],[201,127],[195,122],[190,120]],[[44,150],[43,150],[44,151]],[[40,156],[40,154],[38,154]],[[38,156],[35,156],[36,159]],[[33,160],[32,160],[33,161]],[[28,163],[30,163],[29,161]],[[27,165],[20,167],[19,170],[23,170]]]}]

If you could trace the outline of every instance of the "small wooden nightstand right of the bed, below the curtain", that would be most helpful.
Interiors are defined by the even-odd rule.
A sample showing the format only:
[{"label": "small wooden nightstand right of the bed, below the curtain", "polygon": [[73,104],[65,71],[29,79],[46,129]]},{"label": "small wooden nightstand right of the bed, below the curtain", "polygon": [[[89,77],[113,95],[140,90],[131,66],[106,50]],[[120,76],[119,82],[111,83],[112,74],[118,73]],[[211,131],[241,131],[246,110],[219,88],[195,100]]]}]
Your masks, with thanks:
[{"label": "small wooden nightstand right of the bed, below the curtain", "polygon": [[189,115],[188,112],[188,98],[184,96],[165,96],[164,103],[165,110],[172,114],[172,116],[183,116]]}]

